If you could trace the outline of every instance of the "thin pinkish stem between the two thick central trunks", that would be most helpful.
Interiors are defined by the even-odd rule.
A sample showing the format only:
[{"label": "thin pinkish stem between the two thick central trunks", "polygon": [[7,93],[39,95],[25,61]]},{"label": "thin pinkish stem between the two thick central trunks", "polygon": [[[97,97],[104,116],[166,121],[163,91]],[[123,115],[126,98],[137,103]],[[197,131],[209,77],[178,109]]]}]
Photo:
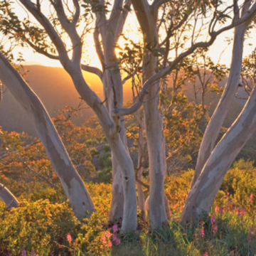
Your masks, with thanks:
[{"label": "thin pinkish stem between the two thick central trunks", "polygon": [[[139,114],[139,111],[135,113],[135,118],[137,120],[137,124],[139,125],[137,180],[142,181],[142,173],[144,169],[144,138],[143,138],[143,122],[142,122],[142,117]],[[146,220],[144,192],[143,192],[142,183],[139,183],[139,181],[137,181],[139,210],[142,213],[143,220]]]}]

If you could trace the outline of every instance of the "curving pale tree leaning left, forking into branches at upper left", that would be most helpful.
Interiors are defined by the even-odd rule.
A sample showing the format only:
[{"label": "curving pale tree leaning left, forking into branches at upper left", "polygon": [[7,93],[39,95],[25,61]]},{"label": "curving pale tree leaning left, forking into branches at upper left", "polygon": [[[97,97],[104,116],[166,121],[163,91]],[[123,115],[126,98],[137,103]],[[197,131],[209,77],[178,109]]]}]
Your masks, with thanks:
[{"label": "curving pale tree leaning left, forking into branches at upper left", "polygon": [[[58,16],[58,25],[63,28],[63,30],[68,34],[70,37],[70,40],[73,45],[73,55],[72,58],[69,58],[67,49],[65,48],[65,44],[63,43],[62,39],[60,38],[58,32],[56,31],[55,24],[53,25],[50,23],[48,18],[42,13],[41,11],[41,4],[37,2],[36,4],[33,4],[31,1],[21,1],[21,4],[23,4],[24,7],[28,11],[31,12],[31,14],[36,18],[38,23],[41,24],[44,30],[41,28],[38,28],[37,26],[31,25],[30,21],[25,21],[21,23],[21,21],[18,20],[18,17],[12,12],[11,8],[9,8],[9,3],[3,4],[4,13],[8,14],[6,16],[6,19],[11,18],[11,22],[6,21],[6,19],[3,19],[2,28],[4,28],[2,31],[4,33],[12,33],[14,36],[17,36],[18,39],[22,39],[23,41],[26,41],[28,45],[32,46],[34,49],[38,50],[38,52],[43,53],[45,55],[50,56],[51,58],[59,59],[60,63],[63,65],[63,68],[68,72],[70,77],[73,80],[73,83],[78,90],[80,96],[83,100],[92,107],[92,110],[95,111],[95,114],[97,114],[97,117],[100,120],[100,123],[102,124],[103,131],[105,132],[105,136],[107,137],[107,141],[109,142],[112,152],[115,156],[115,159],[118,159],[119,166],[122,170],[122,183],[123,183],[123,191],[124,191],[124,215],[122,216],[122,229],[123,230],[129,230],[129,229],[136,229],[137,228],[137,198],[136,198],[136,190],[135,190],[135,178],[134,178],[134,166],[132,163],[132,159],[130,158],[125,144],[122,142],[122,138],[119,134],[119,129],[122,125],[121,120],[119,118],[113,118],[110,116],[110,112],[107,110],[108,105],[112,106],[112,104],[117,104],[119,107],[122,107],[122,86],[120,87],[117,85],[116,87],[113,87],[113,82],[111,83],[110,87],[106,88],[106,90],[109,90],[109,92],[106,92],[106,96],[110,99],[112,97],[113,100],[109,100],[107,102],[107,105],[105,106],[103,102],[100,100],[99,97],[93,92],[90,87],[85,82],[85,79],[82,75],[82,68],[80,65],[81,58],[82,58],[82,41],[81,37],[78,35],[77,31],[77,25],[80,22],[80,4],[78,4],[78,1],[73,1],[75,12],[73,13],[73,16],[71,18],[71,21],[68,19],[68,16],[65,14],[64,6],[62,1],[52,1],[51,4],[53,5],[55,12]],[[100,7],[100,10],[105,13],[105,5],[102,5],[102,3],[95,4],[94,1],[92,1],[92,9],[98,10]],[[114,18],[116,17],[116,12],[120,13],[119,8],[120,4],[122,6],[122,1],[116,1],[116,9],[114,9]],[[113,21],[114,26],[116,26],[117,21]],[[7,26],[6,26],[7,25]],[[10,26],[11,25],[11,26]],[[31,26],[31,27],[29,27]],[[39,31],[41,33],[39,33]],[[105,31],[106,32],[106,31]],[[103,33],[103,32],[102,32]],[[33,38],[30,38],[30,36],[33,35]],[[95,33],[95,36],[98,34]],[[28,36],[28,38],[27,38]],[[38,36],[36,38],[36,36]],[[46,43],[46,37],[49,37],[51,40],[51,43],[53,43],[53,46],[55,47],[55,50],[57,50],[58,55],[51,55],[47,52],[47,43]],[[110,40],[112,38],[112,34],[107,34],[106,40]],[[34,43],[33,43],[34,40]],[[41,42],[40,42],[41,41]],[[43,41],[43,43],[42,43]],[[112,42],[112,41],[110,41]],[[39,44],[39,46],[37,45]],[[108,42],[105,42],[108,44]],[[113,42],[114,43],[114,42]],[[112,50],[113,45],[112,43],[109,43],[107,46],[107,50]],[[54,51],[54,50],[53,50]],[[110,52],[112,53],[113,50]],[[109,53],[109,54],[110,54]],[[107,60],[110,61],[111,56],[107,56]],[[114,69],[114,68],[113,68]],[[98,71],[98,70],[97,70]],[[106,75],[108,74],[109,77],[105,77],[105,79],[109,79],[111,81],[112,79],[119,79],[120,76],[118,75],[111,75],[110,70],[107,70]],[[120,81],[119,79],[119,82]],[[112,86],[112,87],[111,87]],[[115,91],[117,89],[117,92]],[[121,90],[121,92],[119,92]],[[117,95],[117,96],[116,96]],[[119,95],[119,96],[118,96]],[[117,102],[117,99],[119,102]],[[121,100],[120,100],[121,99]],[[53,154],[50,154],[49,157],[52,159],[55,159],[55,156]],[[60,166],[55,166],[55,168],[61,168]],[[120,177],[120,174],[117,174],[117,176]],[[68,178],[66,176],[65,178]],[[116,191],[122,191],[122,187],[118,188]],[[122,193],[121,193],[122,195]],[[78,196],[79,197],[79,196]],[[122,203],[122,202],[119,202]],[[118,203],[118,204],[119,204]],[[117,207],[117,206],[114,206]],[[122,206],[120,207],[122,209]],[[113,208],[112,208],[113,209]]]}]

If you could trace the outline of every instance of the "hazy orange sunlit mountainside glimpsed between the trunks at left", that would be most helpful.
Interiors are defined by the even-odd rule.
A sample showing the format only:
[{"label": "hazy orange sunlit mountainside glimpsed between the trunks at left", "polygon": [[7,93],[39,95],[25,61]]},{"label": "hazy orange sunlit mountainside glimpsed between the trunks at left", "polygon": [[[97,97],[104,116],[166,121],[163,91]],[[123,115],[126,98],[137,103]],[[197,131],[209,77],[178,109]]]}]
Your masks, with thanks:
[{"label": "hazy orange sunlit mountainside glimpsed between the trunks at left", "polygon": [[[51,117],[55,117],[66,105],[78,106],[80,99],[73,82],[63,68],[51,68],[42,65],[25,66],[28,70],[26,80],[31,88],[41,98]],[[84,73],[87,83],[103,100],[103,89],[99,78],[90,73]],[[129,85],[124,86],[124,101],[132,99],[132,91]],[[81,124],[94,113],[86,105],[80,110],[78,117],[73,122]],[[31,125],[28,115],[12,97],[9,90],[4,92],[4,99],[0,105],[0,126],[7,131],[27,132],[35,136],[36,131]]]}]

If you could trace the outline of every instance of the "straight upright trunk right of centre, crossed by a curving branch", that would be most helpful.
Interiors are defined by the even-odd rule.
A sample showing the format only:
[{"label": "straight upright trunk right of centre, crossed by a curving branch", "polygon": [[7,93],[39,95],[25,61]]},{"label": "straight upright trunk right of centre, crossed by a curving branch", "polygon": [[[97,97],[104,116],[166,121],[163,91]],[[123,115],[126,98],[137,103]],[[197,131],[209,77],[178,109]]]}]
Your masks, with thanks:
[{"label": "straight upright trunk right of centre, crossed by a curving branch", "polygon": [[[144,44],[151,48],[158,42],[157,13],[150,9],[147,1],[132,1],[142,32]],[[157,58],[146,51],[143,58],[143,82],[155,74]],[[164,203],[164,152],[162,145],[162,119],[159,112],[159,82],[149,87],[144,97],[144,125],[149,151],[149,221],[152,228],[160,228],[169,223]]]}]

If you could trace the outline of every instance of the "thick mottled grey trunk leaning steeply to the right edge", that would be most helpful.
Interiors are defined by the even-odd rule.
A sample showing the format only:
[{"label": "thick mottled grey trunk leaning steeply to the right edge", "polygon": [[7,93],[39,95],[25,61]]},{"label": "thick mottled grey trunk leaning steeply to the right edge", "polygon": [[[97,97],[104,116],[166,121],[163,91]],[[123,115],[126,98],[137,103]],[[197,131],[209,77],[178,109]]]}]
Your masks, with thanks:
[{"label": "thick mottled grey trunk leaning steeply to the right edge", "polygon": [[255,110],[256,88],[247,100],[238,119],[210,154],[201,175],[188,193],[185,207],[181,213],[181,222],[193,222],[201,213],[210,212],[210,207],[213,205],[225,174],[242,147],[256,131]]}]

